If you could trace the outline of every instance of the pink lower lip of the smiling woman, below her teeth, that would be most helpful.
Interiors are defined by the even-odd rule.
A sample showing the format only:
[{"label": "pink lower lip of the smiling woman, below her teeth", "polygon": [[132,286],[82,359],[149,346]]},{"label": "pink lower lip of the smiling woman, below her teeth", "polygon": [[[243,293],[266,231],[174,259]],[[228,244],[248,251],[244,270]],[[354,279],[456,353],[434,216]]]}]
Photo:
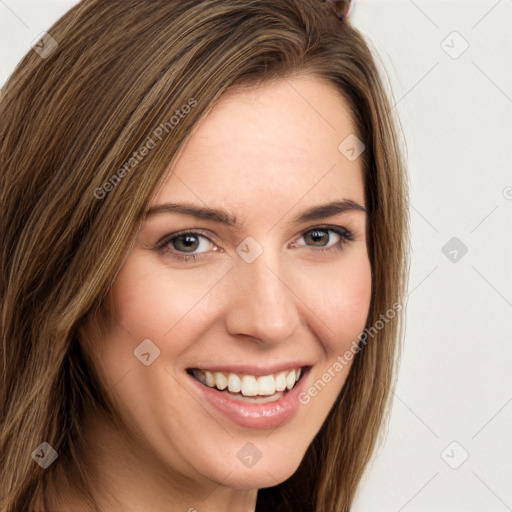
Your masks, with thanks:
[{"label": "pink lower lip of the smiling woman, below her teeth", "polygon": [[266,403],[243,402],[229,393],[216,391],[214,388],[201,384],[191,375],[188,377],[202,397],[231,421],[242,427],[269,429],[284,425],[295,416],[301,405],[298,397],[305,386],[308,373],[309,368],[303,372],[302,378],[297,384],[290,391],[284,393],[279,400]]}]

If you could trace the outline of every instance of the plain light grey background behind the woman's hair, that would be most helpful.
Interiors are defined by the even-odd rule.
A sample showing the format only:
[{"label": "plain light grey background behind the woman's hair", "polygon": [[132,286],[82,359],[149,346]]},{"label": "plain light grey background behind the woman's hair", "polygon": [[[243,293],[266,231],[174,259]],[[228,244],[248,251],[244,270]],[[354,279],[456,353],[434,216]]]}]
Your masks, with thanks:
[{"label": "plain light grey background behind the woman's hair", "polygon": [[[0,0],[0,83],[75,3]],[[354,512],[512,511],[512,0],[358,0],[351,17],[403,127],[413,245],[391,421]]]}]

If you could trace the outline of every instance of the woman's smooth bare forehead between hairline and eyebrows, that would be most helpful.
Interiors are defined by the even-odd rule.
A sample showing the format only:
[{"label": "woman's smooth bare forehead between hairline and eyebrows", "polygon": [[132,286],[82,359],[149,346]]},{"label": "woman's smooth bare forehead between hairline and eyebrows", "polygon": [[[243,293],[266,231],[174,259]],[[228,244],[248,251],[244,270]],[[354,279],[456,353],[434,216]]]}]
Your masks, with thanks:
[{"label": "woman's smooth bare forehead between hairline and eyebrows", "polygon": [[354,133],[347,102],[319,78],[229,91],[195,127],[155,203],[200,201],[242,214],[302,200],[364,204],[361,158],[338,149]]}]

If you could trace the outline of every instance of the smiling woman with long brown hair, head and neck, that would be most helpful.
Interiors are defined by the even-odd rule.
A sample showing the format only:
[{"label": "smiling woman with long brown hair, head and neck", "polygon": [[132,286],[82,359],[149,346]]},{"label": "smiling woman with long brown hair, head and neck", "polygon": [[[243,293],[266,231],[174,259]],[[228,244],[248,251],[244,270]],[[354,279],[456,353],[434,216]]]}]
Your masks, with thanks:
[{"label": "smiling woman with long brown hair, head and neck", "polygon": [[350,509],[407,255],[339,2],[85,0],[2,91],[1,509]]}]

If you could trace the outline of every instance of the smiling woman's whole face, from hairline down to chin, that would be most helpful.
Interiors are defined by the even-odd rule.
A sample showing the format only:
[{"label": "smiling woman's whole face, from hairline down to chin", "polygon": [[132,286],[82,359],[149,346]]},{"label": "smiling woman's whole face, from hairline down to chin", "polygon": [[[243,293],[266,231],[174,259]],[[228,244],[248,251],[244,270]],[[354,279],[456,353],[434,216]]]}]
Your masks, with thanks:
[{"label": "smiling woman's whole face, from hairline down to chin", "polygon": [[276,485],[331,410],[371,294],[362,162],[338,148],[354,133],[330,84],[283,79],[226,94],[169,170],[97,343],[169,474]]}]

